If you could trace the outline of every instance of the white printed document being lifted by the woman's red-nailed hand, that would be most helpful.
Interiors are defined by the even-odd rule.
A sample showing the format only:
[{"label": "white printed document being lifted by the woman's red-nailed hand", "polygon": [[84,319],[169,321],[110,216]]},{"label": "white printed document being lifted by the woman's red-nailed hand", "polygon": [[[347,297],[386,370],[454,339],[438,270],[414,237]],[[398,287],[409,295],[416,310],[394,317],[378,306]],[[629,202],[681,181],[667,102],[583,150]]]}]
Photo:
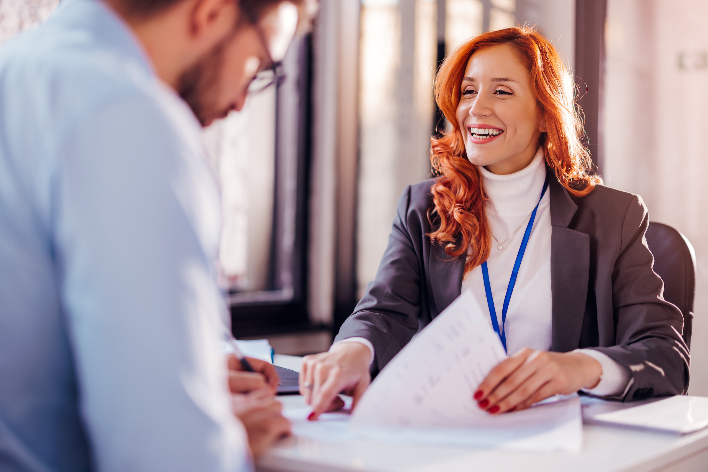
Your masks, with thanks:
[{"label": "white printed document being lifted by the woman's red-nailed hand", "polygon": [[497,416],[477,406],[472,398],[476,388],[505,357],[491,323],[467,291],[387,364],[351,418],[331,413],[307,422],[304,411],[286,414],[295,434],[321,440],[366,437],[535,451],[579,449],[577,397]]}]

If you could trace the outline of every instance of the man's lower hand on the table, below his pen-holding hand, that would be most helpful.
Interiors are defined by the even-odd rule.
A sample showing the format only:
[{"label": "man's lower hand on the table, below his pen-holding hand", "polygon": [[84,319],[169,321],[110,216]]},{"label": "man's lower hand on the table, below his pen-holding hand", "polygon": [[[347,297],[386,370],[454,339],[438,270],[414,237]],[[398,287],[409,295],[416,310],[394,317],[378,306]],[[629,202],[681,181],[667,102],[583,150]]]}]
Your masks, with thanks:
[{"label": "man's lower hand on the table, below his pen-holding hand", "polygon": [[290,422],[282,415],[282,405],[269,388],[234,393],[232,402],[234,415],[244,423],[249,435],[254,459],[258,459],[275,441],[290,434]]}]

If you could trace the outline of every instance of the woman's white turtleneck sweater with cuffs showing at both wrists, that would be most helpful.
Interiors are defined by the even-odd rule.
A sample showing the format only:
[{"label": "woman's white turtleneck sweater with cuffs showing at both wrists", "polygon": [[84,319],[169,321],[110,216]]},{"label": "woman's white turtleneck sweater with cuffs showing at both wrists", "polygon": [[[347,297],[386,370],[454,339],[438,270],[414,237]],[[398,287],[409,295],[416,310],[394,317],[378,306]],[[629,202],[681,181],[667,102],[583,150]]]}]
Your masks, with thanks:
[{"label": "woman's white turtleneck sweater with cuffs showing at both wrists", "polygon": [[[546,178],[544,154],[539,149],[531,163],[515,173],[497,175],[481,166],[479,171],[484,190],[489,197],[486,214],[492,234],[496,236],[498,241],[503,241],[503,249],[498,249],[498,243],[492,239],[491,252],[486,260],[497,321],[501,327],[504,297],[526,230],[527,217],[538,203]],[[504,330],[506,331],[507,350],[510,354],[523,347],[544,351],[551,349],[552,229],[550,194],[550,190],[547,189],[538,207],[506,313]],[[521,227],[519,228],[519,226]],[[518,231],[509,237],[517,228],[519,228]],[[469,272],[462,281],[462,292],[466,289],[472,290],[483,313],[489,317],[481,266],[474,267],[472,272]],[[491,318],[489,319],[491,326]],[[351,342],[366,345],[372,352],[371,362],[373,362],[374,347],[369,340],[347,338],[338,341],[338,343]],[[577,352],[582,352],[598,360],[603,368],[600,383],[592,390],[586,390],[588,393],[598,396],[615,396],[626,390],[630,378],[627,369],[602,352],[591,349],[579,349]]]}]

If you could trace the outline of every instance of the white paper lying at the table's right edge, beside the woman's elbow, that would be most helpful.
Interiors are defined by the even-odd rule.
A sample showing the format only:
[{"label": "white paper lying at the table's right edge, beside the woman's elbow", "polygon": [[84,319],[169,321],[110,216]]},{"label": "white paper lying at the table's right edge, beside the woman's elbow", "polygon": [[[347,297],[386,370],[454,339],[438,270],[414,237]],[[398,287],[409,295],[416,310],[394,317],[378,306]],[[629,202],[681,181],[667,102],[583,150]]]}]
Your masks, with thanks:
[{"label": "white paper lying at the table's right edge, beside the woman's elbow", "polygon": [[593,421],[687,434],[708,427],[708,398],[677,395],[594,415]]}]

